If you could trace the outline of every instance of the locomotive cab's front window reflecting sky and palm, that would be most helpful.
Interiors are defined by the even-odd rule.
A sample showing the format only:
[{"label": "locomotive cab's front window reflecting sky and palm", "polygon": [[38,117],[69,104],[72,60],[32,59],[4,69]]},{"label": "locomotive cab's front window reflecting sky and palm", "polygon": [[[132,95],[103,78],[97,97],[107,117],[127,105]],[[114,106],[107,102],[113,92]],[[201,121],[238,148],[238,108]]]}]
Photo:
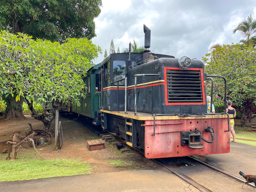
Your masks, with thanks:
[{"label": "locomotive cab's front window reflecting sky and palm", "polygon": [[[123,79],[125,76],[125,61],[113,61],[113,81],[117,81]],[[117,83],[114,83],[117,85]],[[124,85],[124,80],[119,81],[119,85]]]}]

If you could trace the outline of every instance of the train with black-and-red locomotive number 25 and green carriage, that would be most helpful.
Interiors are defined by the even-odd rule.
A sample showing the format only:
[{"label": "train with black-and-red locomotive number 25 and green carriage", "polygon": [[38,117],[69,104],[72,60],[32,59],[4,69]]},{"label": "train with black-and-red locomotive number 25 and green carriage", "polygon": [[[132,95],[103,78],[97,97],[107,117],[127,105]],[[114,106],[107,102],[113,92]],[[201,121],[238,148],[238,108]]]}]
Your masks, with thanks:
[{"label": "train with black-and-red locomotive number 25 and green carriage", "polygon": [[93,118],[146,158],[229,153],[231,116],[225,107],[207,113],[206,80],[221,76],[205,74],[200,60],[152,53],[145,25],[144,33],[145,51],[131,52],[129,44],[129,52],[89,69],[87,98],[72,112]]}]

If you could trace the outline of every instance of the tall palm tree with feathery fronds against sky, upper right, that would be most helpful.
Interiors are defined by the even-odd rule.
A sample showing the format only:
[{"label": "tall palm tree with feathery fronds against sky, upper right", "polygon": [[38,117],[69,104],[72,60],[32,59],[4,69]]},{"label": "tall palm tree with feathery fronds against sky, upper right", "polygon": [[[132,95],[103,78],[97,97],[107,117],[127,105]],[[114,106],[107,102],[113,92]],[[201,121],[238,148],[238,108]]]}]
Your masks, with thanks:
[{"label": "tall palm tree with feathery fronds against sky, upper right", "polygon": [[244,37],[246,37],[246,42],[250,42],[250,36],[256,32],[256,20],[252,16],[248,16],[245,21],[242,21],[238,26],[233,30],[233,34],[239,31]]}]

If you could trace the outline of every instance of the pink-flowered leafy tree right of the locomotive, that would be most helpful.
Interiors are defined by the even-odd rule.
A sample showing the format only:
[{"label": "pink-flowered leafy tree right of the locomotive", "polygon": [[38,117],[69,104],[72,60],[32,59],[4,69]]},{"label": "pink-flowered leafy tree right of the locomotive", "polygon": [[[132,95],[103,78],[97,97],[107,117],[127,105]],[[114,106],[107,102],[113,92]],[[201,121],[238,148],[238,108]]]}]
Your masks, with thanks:
[{"label": "pink-flowered leafy tree right of the locomotive", "polygon": [[[227,100],[241,113],[241,126],[256,112],[256,52],[251,45],[235,44],[217,47],[202,58],[205,72],[221,75],[227,80]],[[214,78],[215,105],[224,104],[224,83]],[[206,85],[210,87],[209,84]]]}]

